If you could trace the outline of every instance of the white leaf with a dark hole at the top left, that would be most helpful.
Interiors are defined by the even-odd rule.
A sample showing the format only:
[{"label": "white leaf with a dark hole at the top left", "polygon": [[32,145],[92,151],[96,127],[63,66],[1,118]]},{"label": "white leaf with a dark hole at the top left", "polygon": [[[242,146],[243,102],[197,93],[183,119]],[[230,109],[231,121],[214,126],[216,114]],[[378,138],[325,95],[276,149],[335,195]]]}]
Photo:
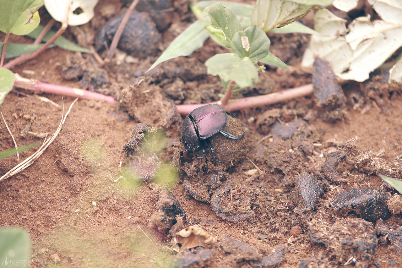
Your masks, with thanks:
[{"label": "white leaf with a dark hole at the top left", "polygon": [[49,14],[63,23],[67,14],[67,24],[76,26],[90,21],[94,16],[94,7],[98,0],[44,0]]}]

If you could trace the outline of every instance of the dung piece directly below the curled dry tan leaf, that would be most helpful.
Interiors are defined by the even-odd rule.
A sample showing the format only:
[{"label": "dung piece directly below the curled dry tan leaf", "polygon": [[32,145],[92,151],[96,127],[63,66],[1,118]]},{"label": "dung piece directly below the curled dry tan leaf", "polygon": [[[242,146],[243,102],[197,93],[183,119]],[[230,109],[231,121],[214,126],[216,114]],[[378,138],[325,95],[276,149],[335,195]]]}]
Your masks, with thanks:
[{"label": "dung piece directly below the curled dry tan leaf", "polygon": [[214,249],[197,247],[195,249],[185,249],[183,255],[177,261],[178,268],[202,268],[215,255]]}]

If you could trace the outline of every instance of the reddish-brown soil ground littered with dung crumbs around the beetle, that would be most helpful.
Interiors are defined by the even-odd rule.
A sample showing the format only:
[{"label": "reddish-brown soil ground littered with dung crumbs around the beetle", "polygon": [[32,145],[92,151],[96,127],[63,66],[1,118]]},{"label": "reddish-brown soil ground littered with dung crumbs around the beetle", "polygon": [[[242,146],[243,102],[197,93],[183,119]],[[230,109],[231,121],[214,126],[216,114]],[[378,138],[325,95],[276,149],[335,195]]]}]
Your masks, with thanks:
[{"label": "reddish-brown soil ground littered with dung crumbs around the beetle", "polygon": [[[161,49],[189,25],[187,4],[181,2],[185,1],[175,4],[172,26],[162,34]],[[79,27],[87,39],[72,33],[77,29],[66,37],[91,43],[96,31],[121,13],[120,7],[117,1],[100,1],[91,23]],[[271,52],[293,71],[269,67],[254,89],[234,98],[312,82],[312,74],[300,68],[309,36],[269,37]],[[203,63],[222,52],[208,40],[191,56],[161,64],[140,78],[141,83],[134,80],[160,52],[133,63],[113,59],[98,66],[107,72],[109,82],[97,90],[121,99],[121,104],[78,100],[43,155],[0,181],[0,224],[29,231],[33,260],[59,258],[63,267],[167,267],[176,260],[182,267],[402,266],[400,214],[376,222],[364,219],[356,209],[345,214],[332,206],[336,194],[351,188],[382,188],[385,201],[396,194],[378,175],[402,178],[402,86],[388,85],[378,73],[369,82],[342,85],[346,98],[337,107],[308,96],[238,111],[238,121],[229,117],[226,128],[236,135],[244,128],[245,136],[239,141],[215,136],[217,161],[210,153],[185,150],[180,142],[183,119],[174,104],[219,99],[218,94],[224,93],[219,78],[208,76]],[[53,47],[12,71],[80,87],[78,79],[62,78],[60,70],[65,68],[56,68],[71,63],[74,55]],[[81,60],[87,69],[96,66],[88,54]],[[74,100],[17,90],[21,94],[8,94],[0,111],[18,146],[43,141],[23,132],[27,124],[31,132],[53,134],[62,106],[65,113]],[[138,123],[158,131],[144,127],[130,138]],[[14,147],[4,123],[0,138],[0,151]],[[20,162],[34,151],[20,153]],[[0,175],[16,164],[16,156],[0,160]],[[134,174],[135,169],[139,171]],[[166,194],[165,187],[171,193]],[[176,255],[174,233],[191,225],[216,241],[180,249]],[[393,235],[388,237],[390,227]],[[37,262],[31,267],[44,265]]]}]

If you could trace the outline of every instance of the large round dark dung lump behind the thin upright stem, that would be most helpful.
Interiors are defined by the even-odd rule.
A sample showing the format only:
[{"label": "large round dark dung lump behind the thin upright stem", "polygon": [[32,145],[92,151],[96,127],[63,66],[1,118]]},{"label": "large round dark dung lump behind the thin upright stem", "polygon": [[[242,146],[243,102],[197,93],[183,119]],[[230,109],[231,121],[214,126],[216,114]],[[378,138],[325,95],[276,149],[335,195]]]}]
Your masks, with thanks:
[{"label": "large round dark dung lump behind the thin upright stem", "polygon": [[[110,45],[124,15],[112,19],[96,33],[96,51],[103,49],[105,43]],[[117,47],[135,58],[146,58],[156,56],[159,42],[160,34],[150,16],[146,13],[132,12]]]}]

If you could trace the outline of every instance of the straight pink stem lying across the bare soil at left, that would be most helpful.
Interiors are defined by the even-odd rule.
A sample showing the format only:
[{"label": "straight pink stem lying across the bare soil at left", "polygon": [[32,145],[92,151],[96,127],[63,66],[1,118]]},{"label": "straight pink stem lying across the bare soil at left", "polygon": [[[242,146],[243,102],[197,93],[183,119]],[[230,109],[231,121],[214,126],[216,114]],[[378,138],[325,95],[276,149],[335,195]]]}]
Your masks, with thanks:
[{"label": "straight pink stem lying across the bare soil at left", "polygon": [[51,85],[36,80],[29,80],[25,78],[18,78],[16,76],[14,86],[22,89],[31,89],[39,92],[64,95],[80,99],[96,99],[98,101],[105,101],[106,103],[118,103],[112,96],[103,95],[97,92],[92,92],[74,87],[65,87],[60,85]]}]

